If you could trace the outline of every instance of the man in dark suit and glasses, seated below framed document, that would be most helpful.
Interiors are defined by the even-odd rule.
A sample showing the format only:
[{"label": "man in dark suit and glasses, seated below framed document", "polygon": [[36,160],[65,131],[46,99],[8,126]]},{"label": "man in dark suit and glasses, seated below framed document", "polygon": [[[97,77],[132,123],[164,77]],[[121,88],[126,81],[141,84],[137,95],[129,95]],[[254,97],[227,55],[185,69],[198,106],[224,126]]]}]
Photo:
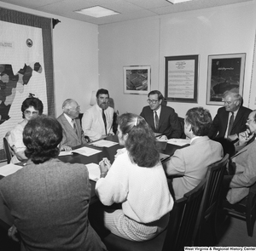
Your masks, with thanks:
[{"label": "man in dark suit and glasses, seated below framed document", "polygon": [[141,116],[147,121],[154,133],[164,134],[167,139],[180,138],[182,128],[177,113],[169,106],[162,106],[163,95],[158,90],[148,94],[149,106],[143,107]]}]

